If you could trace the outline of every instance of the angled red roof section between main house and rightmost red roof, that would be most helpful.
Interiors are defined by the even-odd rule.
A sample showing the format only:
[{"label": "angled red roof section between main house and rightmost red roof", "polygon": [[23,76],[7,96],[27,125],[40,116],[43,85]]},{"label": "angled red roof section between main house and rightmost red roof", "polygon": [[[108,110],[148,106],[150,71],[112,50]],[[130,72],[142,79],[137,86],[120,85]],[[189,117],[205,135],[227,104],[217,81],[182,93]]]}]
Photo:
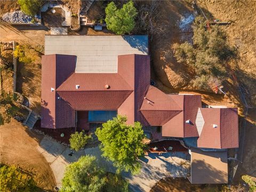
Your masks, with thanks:
[{"label": "angled red roof section between main house and rightmost red roof", "polygon": [[198,137],[195,120],[199,107],[201,95],[168,95],[150,86],[140,110],[150,125],[162,126],[164,137],[183,138]]}]

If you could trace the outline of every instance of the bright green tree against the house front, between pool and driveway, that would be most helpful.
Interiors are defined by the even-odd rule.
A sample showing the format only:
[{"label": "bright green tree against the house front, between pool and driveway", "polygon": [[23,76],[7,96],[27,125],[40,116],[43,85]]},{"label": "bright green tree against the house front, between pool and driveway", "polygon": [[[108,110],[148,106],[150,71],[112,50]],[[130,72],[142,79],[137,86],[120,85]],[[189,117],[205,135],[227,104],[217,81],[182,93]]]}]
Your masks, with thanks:
[{"label": "bright green tree against the house front, between pool and driveway", "polygon": [[134,125],[126,124],[127,118],[118,115],[102,124],[102,129],[95,132],[101,141],[102,156],[114,163],[117,171],[131,171],[133,174],[140,170],[138,157],[143,156],[145,145],[142,139],[145,135],[139,122]]}]

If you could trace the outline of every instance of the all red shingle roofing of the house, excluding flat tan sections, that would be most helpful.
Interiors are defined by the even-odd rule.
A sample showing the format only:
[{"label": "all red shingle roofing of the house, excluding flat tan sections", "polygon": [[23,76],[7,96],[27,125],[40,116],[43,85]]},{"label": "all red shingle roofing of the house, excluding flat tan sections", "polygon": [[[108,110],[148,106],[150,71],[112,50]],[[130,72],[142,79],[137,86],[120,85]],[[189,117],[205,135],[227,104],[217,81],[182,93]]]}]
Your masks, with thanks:
[{"label": "all red shingle roofing of the house, excluding flat tan sections", "polygon": [[[75,62],[72,55],[42,57],[42,127],[74,127],[75,110],[118,110],[129,124],[162,126],[163,137],[199,136],[201,95],[168,95],[150,86],[148,55],[119,55],[117,74],[76,74]],[[205,124],[198,147],[237,147],[237,109],[201,109]]]}]

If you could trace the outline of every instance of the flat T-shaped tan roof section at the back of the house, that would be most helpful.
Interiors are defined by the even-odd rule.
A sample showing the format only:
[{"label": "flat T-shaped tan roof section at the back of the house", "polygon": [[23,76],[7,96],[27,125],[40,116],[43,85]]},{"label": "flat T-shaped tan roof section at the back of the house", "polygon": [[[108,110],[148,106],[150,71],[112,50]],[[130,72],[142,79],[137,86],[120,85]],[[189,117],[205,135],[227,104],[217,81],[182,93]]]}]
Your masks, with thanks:
[{"label": "flat T-shaped tan roof section at the back of the house", "polygon": [[45,54],[76,55],[75,73],[117,73],[117,56],[148,54],[147,35],[46,35]]}]

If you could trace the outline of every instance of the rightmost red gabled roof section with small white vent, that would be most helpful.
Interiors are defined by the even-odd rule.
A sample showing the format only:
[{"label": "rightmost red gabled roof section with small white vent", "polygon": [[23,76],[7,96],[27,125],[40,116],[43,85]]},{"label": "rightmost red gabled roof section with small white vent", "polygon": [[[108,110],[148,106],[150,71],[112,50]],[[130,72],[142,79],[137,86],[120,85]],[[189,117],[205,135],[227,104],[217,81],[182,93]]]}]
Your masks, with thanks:
[{"label": "rightmost red gabled roof section with small white vent", "polygon": [[[238,147],[237,108],[200,108],[200,111],[199,116],[203,117],[204,123],[197,140],[198,147],[215,149]],[[200,119],[202,122],[202,118]]]}]

